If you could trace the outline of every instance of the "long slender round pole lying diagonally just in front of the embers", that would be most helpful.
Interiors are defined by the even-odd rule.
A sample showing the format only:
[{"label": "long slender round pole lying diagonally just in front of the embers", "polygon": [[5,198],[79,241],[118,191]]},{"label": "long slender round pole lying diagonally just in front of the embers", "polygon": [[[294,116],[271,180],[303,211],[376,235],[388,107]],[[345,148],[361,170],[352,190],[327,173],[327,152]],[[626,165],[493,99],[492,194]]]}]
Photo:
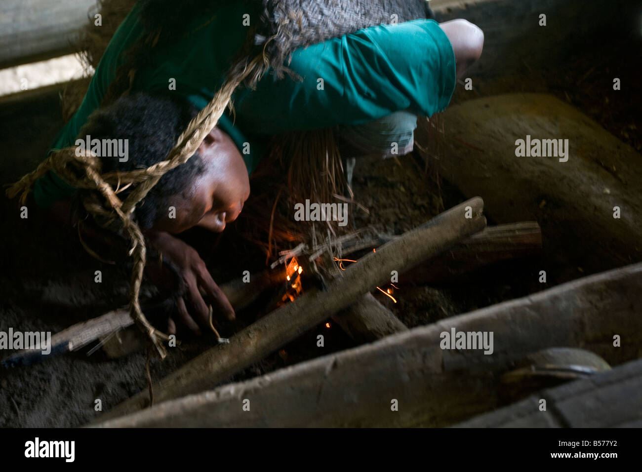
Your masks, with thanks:
[{"label": "long slender round pole lying diagonally just in front of the embers", "polygon": [[[370,252],[331,281],[327,290],[309,290],[219,345],[186,363],[155,384],[154,398],[166,401],[210,389],[253,362],[298,337],[327,317],[349,306],[389,279],[435,256],[486,225],[483,200],[473,198],[453,207],[425,225]],[[470,216],[467,218],[466,216]],[[105,417],[116,417],[148,405],[146,392],[116,406]]]}]

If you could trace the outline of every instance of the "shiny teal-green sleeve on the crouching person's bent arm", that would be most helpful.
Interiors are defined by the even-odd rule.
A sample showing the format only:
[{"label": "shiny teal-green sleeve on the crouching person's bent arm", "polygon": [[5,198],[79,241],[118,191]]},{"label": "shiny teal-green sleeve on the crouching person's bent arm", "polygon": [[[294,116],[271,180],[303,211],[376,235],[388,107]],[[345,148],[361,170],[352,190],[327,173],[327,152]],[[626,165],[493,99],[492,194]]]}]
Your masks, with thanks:
[{"label": "shiny teal-green sleeve on the crouching person's bent arm", "polygon": [[456,82],[453,48],[428,19],[364,28],[297,49],[290,68],[302,82],[270,74],[256,91],[239,92],[240,127],[274,134],[358,125],[404,109],[431,116],[446,109]]}]

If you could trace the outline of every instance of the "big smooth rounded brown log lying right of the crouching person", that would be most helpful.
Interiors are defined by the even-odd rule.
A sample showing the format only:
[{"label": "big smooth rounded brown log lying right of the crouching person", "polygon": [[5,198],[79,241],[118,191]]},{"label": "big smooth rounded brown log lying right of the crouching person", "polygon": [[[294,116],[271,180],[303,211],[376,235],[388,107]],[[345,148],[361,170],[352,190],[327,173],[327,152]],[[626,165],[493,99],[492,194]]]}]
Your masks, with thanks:
[{"label": "big smooth rounded brown log lying right of the crouching person", "polygon": [[[550,282],[642,260],[642,156],[629,145],[547,94],[469,100],[444,114],[442,175],[482,195],[496,222],[537,220]],[[529,153],[518,157],[516,141],[527,137]],[[566,157],[530,155],[535,139],[561,139]]]}]

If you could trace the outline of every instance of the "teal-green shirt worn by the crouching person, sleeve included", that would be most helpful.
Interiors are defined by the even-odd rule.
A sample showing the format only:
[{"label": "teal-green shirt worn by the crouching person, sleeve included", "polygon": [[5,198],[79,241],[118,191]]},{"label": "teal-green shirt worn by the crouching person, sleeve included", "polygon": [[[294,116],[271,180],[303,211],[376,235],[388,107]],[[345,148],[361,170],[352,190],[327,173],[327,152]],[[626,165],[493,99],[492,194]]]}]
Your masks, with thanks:
[{"label": "teal-green shirt worn by the crouching person, sleeve included", "polygon": [[[192,31],[137,71],[135,90],[177,93],[202,109],[223,83],[223,74],[240,48],[247,26],[243,15],[258,17],[243,2],[221,7],[213,18],[195,17]],[[52,149],[73,146],[80,128],[98,108],[116,77],[123,53],[143,34],[134,7],[105,50],[80,108],[67,122]],[[230,135],[251,173],[265,153],[269,135],[334,125],[357,125],[409,109],[421,116],[444,110],[455,89],[455,54],[434,20],[382,24],[329,39],[293,52],[289,66],[302,76],[276,80],[266,74],[257,89],[238,89],[232,96],[236,120],[223,114],[218,126]],[[320,87],[322,79],[322,87]],[[244,143],[249,143],[248,146]],[[49,172],[35,183],[37,204],[49,207],[75,189]]]}]

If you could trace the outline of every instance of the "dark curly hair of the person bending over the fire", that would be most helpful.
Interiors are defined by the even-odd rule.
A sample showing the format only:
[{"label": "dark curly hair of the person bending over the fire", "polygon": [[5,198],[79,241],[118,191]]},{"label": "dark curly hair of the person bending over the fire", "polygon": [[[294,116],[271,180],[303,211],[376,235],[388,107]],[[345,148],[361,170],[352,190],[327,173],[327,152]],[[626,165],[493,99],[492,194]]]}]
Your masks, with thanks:
[{"label": "dark curly hair of the person bending over the fire", "polygon": [[[144,169],[167,157],[197,113],[187,100],[171,93],[136,92],[94,111],[77,137],[128,140],[128,160],[120,162],[117,156],[103,156],[103,172]],[[163,175],[137,205],[135,216],[139,227],[150,229],[160,216],[159,209],[168,207],[173,195],[189,198],[185,193],[189,183],[204,171],[204,160],[195,153],[187,162]],[[130,190],[119,194],[121,200]]]}]

